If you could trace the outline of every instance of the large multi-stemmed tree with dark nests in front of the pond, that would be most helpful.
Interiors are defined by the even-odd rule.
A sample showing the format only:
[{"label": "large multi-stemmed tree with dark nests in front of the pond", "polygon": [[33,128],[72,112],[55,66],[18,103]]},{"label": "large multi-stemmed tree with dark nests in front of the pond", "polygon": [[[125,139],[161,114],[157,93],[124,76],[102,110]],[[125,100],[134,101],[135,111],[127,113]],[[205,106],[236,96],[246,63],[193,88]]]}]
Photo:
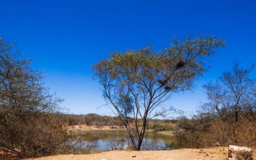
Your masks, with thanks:
[{"label": "large multi-stemmed tree with dark nests in front of the pond", "polygon": [[140,150],[148,120],[170,113],[163,102],[177,92],[193,89],[194,80],[206,70],[205,58],[220,46],[225,42],[215,36],[188,34],[182,39],[173,37],[159,51],[151,46],[126,49],[92,65],[103,97],[126,126],[134,149]]}]

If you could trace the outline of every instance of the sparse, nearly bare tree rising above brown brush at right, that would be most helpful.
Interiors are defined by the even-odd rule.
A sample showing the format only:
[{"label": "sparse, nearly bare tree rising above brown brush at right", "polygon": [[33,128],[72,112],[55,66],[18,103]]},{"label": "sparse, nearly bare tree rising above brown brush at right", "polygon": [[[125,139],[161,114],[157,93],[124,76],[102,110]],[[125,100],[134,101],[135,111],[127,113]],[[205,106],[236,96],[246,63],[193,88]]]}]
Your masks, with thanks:
[{"label": "sparse, nearly bare tree rising above brown brush at right", "polygon": [[208,102],[200,105],[202,111],[224,121],[256,119],[256,81],[249,76],[253,68],[242,68],[241,62],[234,61],[216,83],[205,84]]}]

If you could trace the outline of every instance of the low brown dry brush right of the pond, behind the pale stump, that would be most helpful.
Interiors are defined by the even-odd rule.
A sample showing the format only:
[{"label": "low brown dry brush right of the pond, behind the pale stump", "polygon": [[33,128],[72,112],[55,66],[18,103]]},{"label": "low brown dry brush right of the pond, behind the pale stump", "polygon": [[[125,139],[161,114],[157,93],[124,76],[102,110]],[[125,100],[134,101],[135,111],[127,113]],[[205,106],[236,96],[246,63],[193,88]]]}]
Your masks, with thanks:
[{"label": "low brown dry brush right of the pond, behind the pale stump", "polygon": [[256,147],[256,122],[241,120],[237,123],[213,120],[205,130],[177,130],[176,148],[207,148],[216,143],[221,146],[238,145]]}]

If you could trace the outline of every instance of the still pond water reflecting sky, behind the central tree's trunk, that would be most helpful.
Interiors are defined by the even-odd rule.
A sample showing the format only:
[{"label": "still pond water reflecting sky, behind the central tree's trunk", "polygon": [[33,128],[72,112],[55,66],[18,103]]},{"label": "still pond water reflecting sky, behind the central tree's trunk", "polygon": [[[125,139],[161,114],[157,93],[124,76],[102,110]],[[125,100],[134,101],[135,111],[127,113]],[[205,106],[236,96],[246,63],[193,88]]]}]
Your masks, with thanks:
[{"label": "still pond water reflecting sky, behind the central tree's trunk", "polygon": [[[101,130],[101,131],[90,131],[81,132],[81,137],[84,139],[97,137],[97,143],[93,143],[93,148],[98,149],[110,149],[113,147],[120,148],[123,145],[128,145],[128,139],[126,130]],[[164,135],[154,132],[146,132],[144,136],[144,148],[146,145],[156,145],[154,150],[164,146],[166,143],[175,142],[176,137],[172,135]]]}]

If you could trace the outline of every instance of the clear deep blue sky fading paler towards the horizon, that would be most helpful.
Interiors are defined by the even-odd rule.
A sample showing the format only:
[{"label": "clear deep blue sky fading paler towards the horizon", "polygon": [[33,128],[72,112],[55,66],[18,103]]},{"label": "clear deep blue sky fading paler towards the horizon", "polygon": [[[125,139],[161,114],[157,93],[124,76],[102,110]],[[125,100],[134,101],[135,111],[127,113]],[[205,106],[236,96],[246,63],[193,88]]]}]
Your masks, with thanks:
[{"label": "clear deep blue sky fading paler towards the horizon", "polygon": [[107,52],[146,42],[162,49],[173,35],[188,32],[226,40],[226,48],[209,59],[210,70],[195,82],[194,93],[166,102],[184,111],[205,101],[201,86],[234,59],[245,67],[256,61],[255,0],[0,0],[0,17],[0,31],[19,41],[22,55],[34,59],[32,67],[45,71],[45,86],[74,114],[110,112],[96,110],[105,102],[89,71]]}]

